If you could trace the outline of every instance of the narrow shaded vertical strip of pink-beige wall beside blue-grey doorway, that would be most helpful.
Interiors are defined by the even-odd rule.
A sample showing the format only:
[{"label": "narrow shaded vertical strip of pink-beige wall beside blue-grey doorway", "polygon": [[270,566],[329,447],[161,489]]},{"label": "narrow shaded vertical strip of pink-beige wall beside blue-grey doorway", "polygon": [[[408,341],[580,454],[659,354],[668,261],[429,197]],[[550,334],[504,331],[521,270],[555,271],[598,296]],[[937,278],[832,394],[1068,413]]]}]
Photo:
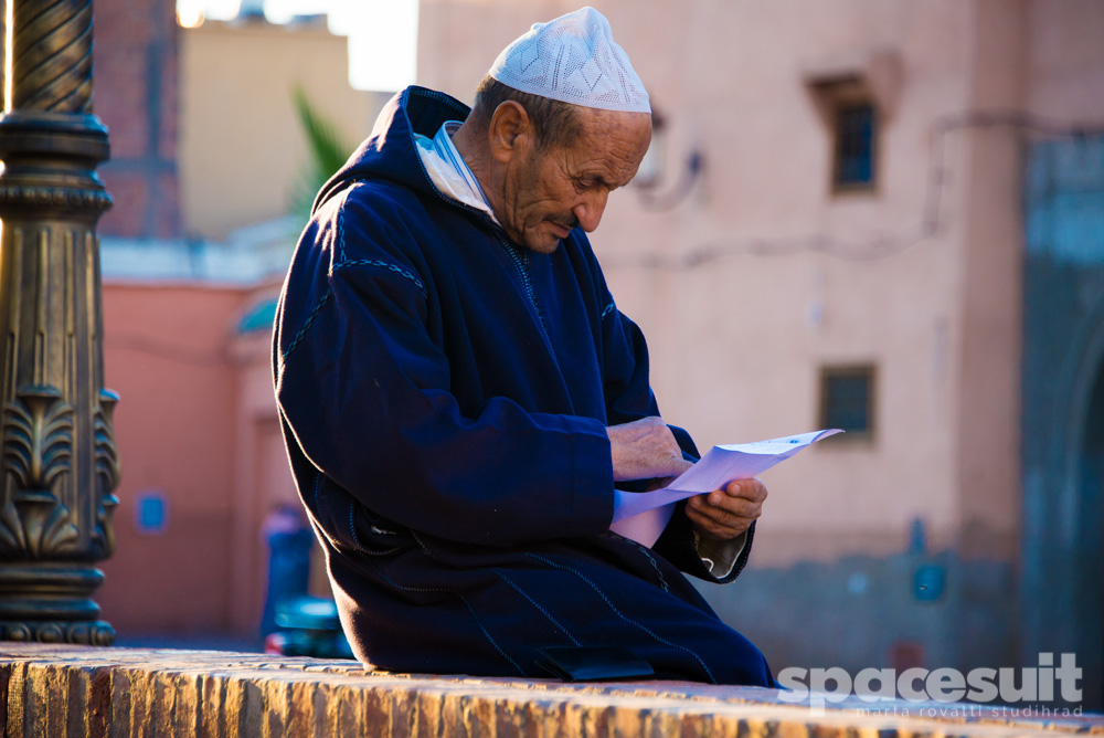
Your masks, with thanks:
[{"label": "narrow shaded vertical strip of pink-beige wall beside blue-grey doorway", "polygon": [[[1028,2],[970,3],[969,87],[956,129],[963,144],[957,301],[956,514],[964,556],[1011,559],[1020,527],[1020,358],[1022,351],[1026,131],[1004,120],[1023,109],[1030,43]],[[1047,4],[1053,6],[1053,2]]]}]

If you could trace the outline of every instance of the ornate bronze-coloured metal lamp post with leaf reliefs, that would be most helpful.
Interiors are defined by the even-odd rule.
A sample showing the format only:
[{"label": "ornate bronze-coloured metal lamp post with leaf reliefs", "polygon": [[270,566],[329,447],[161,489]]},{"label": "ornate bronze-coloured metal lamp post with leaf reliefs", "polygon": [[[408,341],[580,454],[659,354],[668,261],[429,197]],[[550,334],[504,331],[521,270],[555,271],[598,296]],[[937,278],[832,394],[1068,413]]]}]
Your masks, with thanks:
[{"label": "ornate bronze-coloured metal lamp post with leaf reliefs", "polygon": [[92,0],[8,0],[0,117],[0,639],[107,645],[118,398],[103,387],[99,242],[109,156],[92,114]]}]

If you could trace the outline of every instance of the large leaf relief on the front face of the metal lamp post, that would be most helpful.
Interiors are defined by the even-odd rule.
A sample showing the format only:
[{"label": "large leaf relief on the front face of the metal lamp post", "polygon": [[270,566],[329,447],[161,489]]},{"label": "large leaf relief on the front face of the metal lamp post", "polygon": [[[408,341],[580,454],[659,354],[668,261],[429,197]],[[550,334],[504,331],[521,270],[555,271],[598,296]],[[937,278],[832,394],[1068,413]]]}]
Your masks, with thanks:
[{"label": "large leaf relief on the front face of the metal lamp post", "polygon": [[75,551],[81,534],[54,494],[73,458],[73,408],[53,387],[22,387],[3,409],[3,467],[15,491],[0,510],[0,539],[31,558]]}]

